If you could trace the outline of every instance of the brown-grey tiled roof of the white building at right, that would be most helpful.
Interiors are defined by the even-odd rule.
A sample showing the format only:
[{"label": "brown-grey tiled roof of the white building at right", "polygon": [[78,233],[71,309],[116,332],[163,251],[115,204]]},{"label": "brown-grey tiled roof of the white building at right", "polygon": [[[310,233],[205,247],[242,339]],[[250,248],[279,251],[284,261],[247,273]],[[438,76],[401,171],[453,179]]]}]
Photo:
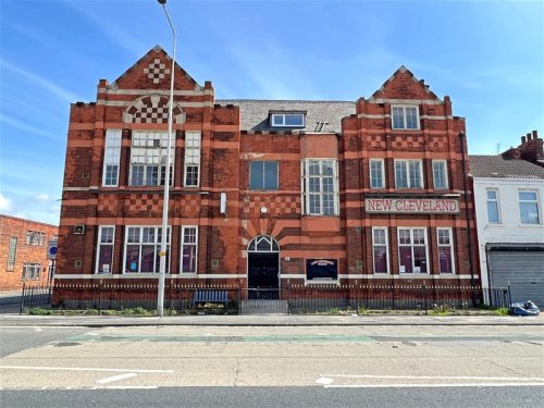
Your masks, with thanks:
[{"label": "brown-grey tiled roof of the white building at right", "polygon": [[504,159],[502,156],[470,154],[470,175],[474,178],[541,178],[544,168],[522,159]]}]

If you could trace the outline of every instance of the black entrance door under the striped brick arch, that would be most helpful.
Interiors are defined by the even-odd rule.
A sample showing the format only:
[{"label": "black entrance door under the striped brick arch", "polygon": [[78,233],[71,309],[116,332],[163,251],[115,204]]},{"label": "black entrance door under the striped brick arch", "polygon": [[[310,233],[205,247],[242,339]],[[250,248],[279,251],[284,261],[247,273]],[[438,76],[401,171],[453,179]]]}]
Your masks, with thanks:
[{"label": "black entrance door under the striped brick arch", "polygon": [[249,252],[247,287],[254,299],[277,299],[280,288],[280,258],[277,252]]}]

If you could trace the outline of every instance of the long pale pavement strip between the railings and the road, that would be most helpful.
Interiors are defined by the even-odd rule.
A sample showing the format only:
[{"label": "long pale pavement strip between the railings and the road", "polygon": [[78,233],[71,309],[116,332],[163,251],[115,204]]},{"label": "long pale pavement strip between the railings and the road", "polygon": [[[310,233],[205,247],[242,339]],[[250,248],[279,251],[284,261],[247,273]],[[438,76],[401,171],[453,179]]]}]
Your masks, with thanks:
[{"label": "long pale pavement strip between the railings and the road", "polygon": [[124,317],[124,316],[29,316],[0,314],[0,326],[144,326],[144,325],[212,325],[212,326],[348,326],[348,325],[508,325],[544,326],[544,316],[176,316],[176,317]]}]

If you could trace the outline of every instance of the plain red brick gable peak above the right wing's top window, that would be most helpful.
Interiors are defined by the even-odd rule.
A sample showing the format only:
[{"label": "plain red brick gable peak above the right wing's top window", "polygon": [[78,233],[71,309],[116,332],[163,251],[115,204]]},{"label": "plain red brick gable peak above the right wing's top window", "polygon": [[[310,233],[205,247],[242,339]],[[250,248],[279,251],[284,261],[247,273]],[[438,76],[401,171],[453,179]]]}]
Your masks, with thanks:
[{"label": "plain red brick gable peak above the right wing's top window", "polygon": [[424,81],[418,79],[404,65],[383,83],[382,87],[372,94],[372,99],[437,99],[441,100],[425,85]]}]

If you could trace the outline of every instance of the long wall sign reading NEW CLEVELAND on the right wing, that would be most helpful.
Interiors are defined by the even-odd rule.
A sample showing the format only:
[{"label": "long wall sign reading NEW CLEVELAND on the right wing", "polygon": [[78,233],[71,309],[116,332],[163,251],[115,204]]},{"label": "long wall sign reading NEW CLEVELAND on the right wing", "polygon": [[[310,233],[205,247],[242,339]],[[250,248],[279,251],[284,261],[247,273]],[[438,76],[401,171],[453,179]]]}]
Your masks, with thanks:
[{"label": "long wall sign reading NEW CLEVELAND on the right wing", "polygon": [[366,198],[367,212],[458,214],[459,200],[452,198]]}]

